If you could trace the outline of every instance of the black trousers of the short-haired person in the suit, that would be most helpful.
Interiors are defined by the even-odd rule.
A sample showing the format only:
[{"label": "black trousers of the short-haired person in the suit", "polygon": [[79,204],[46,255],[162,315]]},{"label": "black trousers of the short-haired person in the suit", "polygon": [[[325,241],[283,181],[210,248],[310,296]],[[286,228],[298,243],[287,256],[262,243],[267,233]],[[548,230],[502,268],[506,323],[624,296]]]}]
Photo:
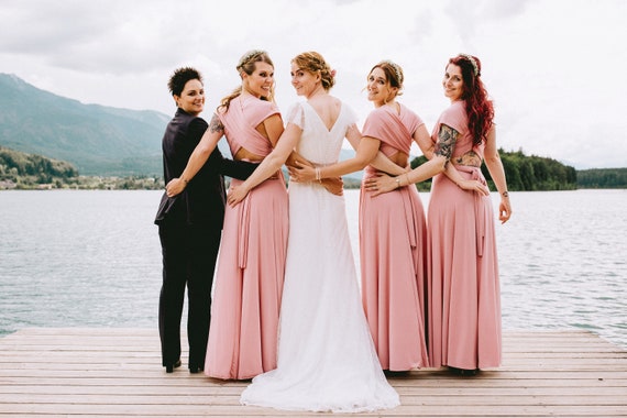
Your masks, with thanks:
[{"label": "black trousers of the short-haired person in the suit", "polygon": [[211,320],[211,285],[221,226],[161,224],[163,285],[158,306],[162,362],[180,358],[180,321],[187,287],[189,369],[204,367]]}]

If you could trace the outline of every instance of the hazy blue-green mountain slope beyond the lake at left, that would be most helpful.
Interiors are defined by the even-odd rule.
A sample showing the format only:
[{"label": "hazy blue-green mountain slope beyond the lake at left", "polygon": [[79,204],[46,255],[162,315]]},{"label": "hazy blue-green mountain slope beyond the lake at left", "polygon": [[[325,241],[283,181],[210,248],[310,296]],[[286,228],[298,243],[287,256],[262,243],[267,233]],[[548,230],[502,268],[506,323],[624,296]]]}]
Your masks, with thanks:
[{"label": "hazy blue-green mountain slope beyond the lake at left", "polygon": [[0,74],[0,145],[72,163],[81,175],[162,175],[170,117],[77,100]]}]

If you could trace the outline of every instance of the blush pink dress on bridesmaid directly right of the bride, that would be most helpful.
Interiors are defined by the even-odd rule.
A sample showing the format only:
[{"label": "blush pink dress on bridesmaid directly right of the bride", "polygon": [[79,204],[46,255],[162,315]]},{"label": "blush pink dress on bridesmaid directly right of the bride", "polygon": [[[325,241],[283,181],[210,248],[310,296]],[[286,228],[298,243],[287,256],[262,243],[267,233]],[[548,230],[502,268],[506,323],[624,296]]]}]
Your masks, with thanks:
[{"label": "blush pink dress on bridesmaid directly right of the bride", "polygon": [[[383,106],[369,114],[362,134],[380,140],[385,155],[409,154],[422,123],[405,106],[399,114]],[[425,211],[414,185],[373,197],[364,185],[375,174],[365,168],[360,196],[362,302],[382,367],[408,371],[429,365]]]}]

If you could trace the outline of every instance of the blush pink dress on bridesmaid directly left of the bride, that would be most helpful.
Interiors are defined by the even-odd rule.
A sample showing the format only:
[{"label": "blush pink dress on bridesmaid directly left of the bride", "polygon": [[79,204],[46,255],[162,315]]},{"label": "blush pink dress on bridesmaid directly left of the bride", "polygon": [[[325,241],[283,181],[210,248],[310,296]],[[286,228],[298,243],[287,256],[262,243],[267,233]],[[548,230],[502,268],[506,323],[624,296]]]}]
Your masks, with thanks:
[{"label": "blush pink dress on bridesmaid directly left of the bride", "polygon": [[[255,129],[278,113],[276,105],[243,95],[220,113],[231,153],[265,156],[272,144]],[[231,179],[232,185],[241,184]],[[278,315],[288,233],[283,174],[255,187],[234,208],[227,206],[218,258],[205,374],[248,380],[276,367]]]}]

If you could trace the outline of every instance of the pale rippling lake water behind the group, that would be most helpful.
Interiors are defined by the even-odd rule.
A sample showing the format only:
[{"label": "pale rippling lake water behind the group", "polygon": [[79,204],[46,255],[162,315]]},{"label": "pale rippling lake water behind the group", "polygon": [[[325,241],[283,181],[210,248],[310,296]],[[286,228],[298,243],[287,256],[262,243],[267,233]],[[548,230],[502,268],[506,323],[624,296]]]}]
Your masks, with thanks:
[{"label": "pale rippling lake water behind the group", "polygon": [[[429,194],[420,196],[427,207]],[[0,336],[156,329],[160,197],[0,191]],[[627,190],[513,193],[512,201],[513,218],[496,227],[504,329],[586,329],[627,348]],[[359,190],[346,190],[355,255],[358,205]]]}]

